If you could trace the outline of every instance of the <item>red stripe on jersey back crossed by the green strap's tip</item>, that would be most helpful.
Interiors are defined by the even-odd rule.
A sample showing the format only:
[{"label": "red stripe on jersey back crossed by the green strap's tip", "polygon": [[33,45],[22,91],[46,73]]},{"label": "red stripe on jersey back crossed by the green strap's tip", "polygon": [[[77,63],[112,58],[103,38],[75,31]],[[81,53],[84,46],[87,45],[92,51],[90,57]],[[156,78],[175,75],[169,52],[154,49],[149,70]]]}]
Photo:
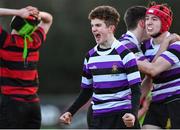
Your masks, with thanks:
[{"label": "red stripe on jersey back crossed by the green strap's tip", "polygon": [[[24,59],[22,57],[22,52],[12,52],[7,50],[0,49],[1,57],[6,61],[19,61],[23,62]],[[39,52],[31,52],[27,57],[27,61],[38,61],[39,60]]]}]

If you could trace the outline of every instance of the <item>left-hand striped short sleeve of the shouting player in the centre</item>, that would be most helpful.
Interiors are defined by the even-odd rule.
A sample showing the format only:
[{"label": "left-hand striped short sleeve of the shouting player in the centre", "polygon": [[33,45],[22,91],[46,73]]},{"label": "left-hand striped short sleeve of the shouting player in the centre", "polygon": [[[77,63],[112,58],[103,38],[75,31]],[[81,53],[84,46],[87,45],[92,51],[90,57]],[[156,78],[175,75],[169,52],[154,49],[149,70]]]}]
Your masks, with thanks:
[{"label": "left-hand striped short sleeve of the shouting player in the centre", "polygon": [[91,88],[93,84],[92,74],[87,65],[88,58],[84,59],[83,72],[82,72],[82,80],[81,87],[82,88]]}]

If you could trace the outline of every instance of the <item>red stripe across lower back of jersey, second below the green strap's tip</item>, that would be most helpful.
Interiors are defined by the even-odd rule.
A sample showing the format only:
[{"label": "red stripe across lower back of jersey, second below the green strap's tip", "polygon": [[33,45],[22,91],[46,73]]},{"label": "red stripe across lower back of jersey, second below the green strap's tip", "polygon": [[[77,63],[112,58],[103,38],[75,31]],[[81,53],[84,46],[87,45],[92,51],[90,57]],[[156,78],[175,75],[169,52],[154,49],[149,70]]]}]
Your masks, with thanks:
[{"label": "red stripe across lower back of jersey, second below the green strap's tip", "polygon": [[2,86],[2,94],[22,94],[22,95],[32,95],[37,92],[38,88],[36,87],[11,87],[11,86]]}]

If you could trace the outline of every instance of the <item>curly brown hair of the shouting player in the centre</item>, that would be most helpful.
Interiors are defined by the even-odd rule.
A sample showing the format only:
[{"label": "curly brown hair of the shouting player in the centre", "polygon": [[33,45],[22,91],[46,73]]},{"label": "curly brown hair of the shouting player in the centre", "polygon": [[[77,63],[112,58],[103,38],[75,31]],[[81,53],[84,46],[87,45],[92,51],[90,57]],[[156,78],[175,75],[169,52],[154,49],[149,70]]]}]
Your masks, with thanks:
[{"label": "curly brown hair of the shouting player in the centre", "polygon": [[89,16],[88,16],[89,20],[92,20],[95,18],[104,20],[106,26],[115,25],[115,27],[117,27],[119,23],[119,19],[120,19],[120,14],[114,7],[103,5],[103,6],[98,6],[94,8],[89,13]]}]

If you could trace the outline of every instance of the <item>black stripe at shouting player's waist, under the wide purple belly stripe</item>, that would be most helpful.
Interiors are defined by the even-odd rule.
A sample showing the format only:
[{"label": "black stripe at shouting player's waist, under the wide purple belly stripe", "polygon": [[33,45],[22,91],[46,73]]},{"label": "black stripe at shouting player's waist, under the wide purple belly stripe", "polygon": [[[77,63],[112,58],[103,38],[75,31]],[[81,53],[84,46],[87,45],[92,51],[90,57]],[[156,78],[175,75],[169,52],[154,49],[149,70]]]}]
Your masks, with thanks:
[{"label": "black stripe at shouting player's waist, under the wide purple belly stripe", "polygon": [[95,94],[113,94],[129,89],[129,86],[115,87],[115,88],[93,88]]}]

